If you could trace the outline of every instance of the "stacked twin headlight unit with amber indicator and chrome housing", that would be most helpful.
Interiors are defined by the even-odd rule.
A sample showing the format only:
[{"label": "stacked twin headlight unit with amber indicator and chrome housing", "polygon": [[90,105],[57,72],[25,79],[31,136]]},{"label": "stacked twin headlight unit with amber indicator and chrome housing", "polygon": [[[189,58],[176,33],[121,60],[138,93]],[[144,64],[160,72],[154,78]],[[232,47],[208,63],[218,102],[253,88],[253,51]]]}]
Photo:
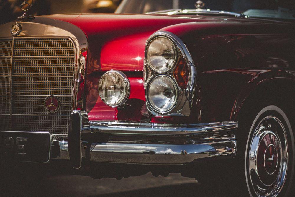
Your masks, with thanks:
[{"label": "stacked twin headlight unit with amber indicator and chrome housing", "polygon": [[147,106],[153,115],[189,114],[190,109],[181,111],[192,97],[192,72],[187,56],[190,57],[183,42],[169,32],[156,32],[148,40],[144,84]]}]

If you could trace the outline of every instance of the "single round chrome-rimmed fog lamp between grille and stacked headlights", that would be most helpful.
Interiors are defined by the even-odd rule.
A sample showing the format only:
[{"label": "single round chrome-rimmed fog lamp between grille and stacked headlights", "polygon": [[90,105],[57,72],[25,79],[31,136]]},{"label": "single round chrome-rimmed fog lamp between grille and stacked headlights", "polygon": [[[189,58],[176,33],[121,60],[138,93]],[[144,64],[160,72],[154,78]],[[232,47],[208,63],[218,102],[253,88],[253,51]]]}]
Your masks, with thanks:
[{"label": "single round chrome-rimmed fog lamp between grille and stacked headlights", "polygon": [[127,76],[120,71],[110,70],[103,74],[98,86],[99,96],[106,105],[117,107],[129,97],[130,82]]}]

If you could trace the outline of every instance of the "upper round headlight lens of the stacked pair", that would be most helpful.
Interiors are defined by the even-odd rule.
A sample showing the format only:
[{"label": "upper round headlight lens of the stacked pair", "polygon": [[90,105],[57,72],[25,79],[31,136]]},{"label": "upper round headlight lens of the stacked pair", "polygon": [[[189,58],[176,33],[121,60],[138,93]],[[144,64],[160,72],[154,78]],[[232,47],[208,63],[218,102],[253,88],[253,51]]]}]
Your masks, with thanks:
[{"label": "upper round headlight lens of the stacked pair", "polygon": [[163,36],[154,38],[146,49],[146,59],[150,67],[159,73],[169,71],[176,61],[176,47]]}]

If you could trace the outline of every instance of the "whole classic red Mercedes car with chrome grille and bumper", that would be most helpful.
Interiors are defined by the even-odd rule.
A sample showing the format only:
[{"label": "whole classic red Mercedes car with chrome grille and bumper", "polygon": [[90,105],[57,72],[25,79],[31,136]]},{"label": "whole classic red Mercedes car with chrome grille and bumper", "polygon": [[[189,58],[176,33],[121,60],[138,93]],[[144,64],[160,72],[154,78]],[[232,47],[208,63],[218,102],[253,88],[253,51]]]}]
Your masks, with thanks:
[{"label": "whole classic red Mercedes car with chrome grille and bumper", "polygon": [[219,0],[213,10],[186,0],[119,13],[132,2],[118,14],[0,25],[4,164],[189,165],[191,174],[227,164],[241,191],[291,195],[294,4],[227,0],[218,10]]}]

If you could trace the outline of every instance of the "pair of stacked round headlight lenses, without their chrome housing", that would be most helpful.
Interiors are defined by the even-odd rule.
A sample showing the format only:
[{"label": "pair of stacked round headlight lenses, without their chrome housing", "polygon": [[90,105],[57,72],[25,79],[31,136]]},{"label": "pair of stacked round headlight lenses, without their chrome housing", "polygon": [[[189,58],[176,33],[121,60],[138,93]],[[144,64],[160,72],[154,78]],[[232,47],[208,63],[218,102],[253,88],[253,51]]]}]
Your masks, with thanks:
[{"label": "pair of stacked round headlight lenses, without their chrome housing", "polygon": [[177,85],[165,74],[174,67],[176,57],[176,46],[166,37],[154,38],[146,49],[147,64],[160,74],[149,82],[146,96],[151,107],[159,113],[171,110],[177,101]]}]

